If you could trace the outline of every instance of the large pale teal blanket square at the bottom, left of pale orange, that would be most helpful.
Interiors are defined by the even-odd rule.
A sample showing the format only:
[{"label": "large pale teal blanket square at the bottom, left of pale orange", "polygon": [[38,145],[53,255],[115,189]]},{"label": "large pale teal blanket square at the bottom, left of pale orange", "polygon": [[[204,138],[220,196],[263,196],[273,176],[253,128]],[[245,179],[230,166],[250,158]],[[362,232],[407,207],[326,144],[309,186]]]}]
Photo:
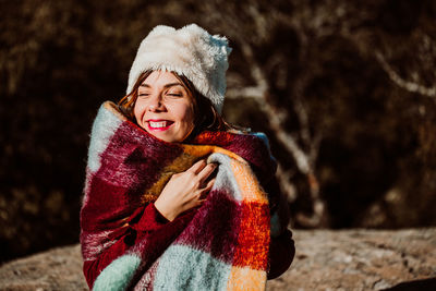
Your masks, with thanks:
[{"label": "large pale teal blanket square at the bottom, left of pale orange", "polygon": [[153,290],[226,290],[230,270],[207,253],[172,245],[159,259]]}]

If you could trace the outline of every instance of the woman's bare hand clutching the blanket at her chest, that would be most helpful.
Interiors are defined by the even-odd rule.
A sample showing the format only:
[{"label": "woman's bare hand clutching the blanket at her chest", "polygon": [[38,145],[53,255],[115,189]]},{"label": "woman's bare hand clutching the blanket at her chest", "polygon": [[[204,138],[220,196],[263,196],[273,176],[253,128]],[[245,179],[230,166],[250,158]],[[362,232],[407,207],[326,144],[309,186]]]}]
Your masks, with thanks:
[{"label": "woman's bare hand clutching the blanket at her chest", "polygon": [[216,168],[215,163],[206,163],[203,159],[186,171],[173,174],[156,199],[156,209],[172,221],[180,214],[199,206],[214,185],[215,179],[207,184],[205,181]]}]

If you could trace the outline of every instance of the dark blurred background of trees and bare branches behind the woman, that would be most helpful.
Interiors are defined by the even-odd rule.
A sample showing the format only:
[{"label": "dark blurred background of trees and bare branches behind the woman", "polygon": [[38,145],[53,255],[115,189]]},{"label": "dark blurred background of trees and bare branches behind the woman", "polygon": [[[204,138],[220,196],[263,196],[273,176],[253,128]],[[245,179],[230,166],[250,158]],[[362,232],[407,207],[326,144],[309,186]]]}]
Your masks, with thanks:
[{"label": "dark blurred background of trees and bare branches behind the woman", "polygon": [[88,134],[141,40],[233,52],[225,116],[264,131],[293,228],[436,225],[433,0],[0,0],[0,262],[78,241]]}]

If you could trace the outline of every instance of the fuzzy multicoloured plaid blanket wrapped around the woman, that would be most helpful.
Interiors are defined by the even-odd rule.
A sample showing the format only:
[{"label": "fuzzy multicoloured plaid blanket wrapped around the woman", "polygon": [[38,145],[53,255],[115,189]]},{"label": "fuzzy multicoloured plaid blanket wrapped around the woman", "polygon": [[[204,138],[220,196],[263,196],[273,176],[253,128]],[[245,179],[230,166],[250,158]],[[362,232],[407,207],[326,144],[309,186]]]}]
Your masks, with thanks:
[{"label": "fuzzy multicoloured plaid blanket wrapped around the woman", "polygon": [[102,268],[93,290],[264,290],[270,207],[261,186],[276,171],[263,134],[203,132],[190,144],[157,140],[105,102],[92,130],[81,210],[85,262],[117,243],[172,174],[202,158],[218,165],[206,202]]}]

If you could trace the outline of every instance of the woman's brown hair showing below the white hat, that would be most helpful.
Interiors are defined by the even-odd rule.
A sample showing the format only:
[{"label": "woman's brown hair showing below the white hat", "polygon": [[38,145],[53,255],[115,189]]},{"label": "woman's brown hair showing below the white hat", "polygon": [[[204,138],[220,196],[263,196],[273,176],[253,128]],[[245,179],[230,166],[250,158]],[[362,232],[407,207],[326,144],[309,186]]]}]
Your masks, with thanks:
[{"label": "woman's brown hair showing below the white hat", "polygon": [[[137,89],[141,84],[153,73],[148,70],[143,72],[134,84],[132,90],[122,97],[118,105],[120,106],[123,113],[134,123],[136,123],[133,108],[137,99]],[[174,76],[182,83],[182,86],[191,94],[194,102],[194,124],[195,128],[191,133],[190,137],[196,136],[203,131],[240,131],[238,126],[228,123],[215,109],[210,100],[204,97],[197,89],[195,89],[192,82],[184,75],[179,75],[172,72]],[[190,138],[187,137],[187,140]]]}]

